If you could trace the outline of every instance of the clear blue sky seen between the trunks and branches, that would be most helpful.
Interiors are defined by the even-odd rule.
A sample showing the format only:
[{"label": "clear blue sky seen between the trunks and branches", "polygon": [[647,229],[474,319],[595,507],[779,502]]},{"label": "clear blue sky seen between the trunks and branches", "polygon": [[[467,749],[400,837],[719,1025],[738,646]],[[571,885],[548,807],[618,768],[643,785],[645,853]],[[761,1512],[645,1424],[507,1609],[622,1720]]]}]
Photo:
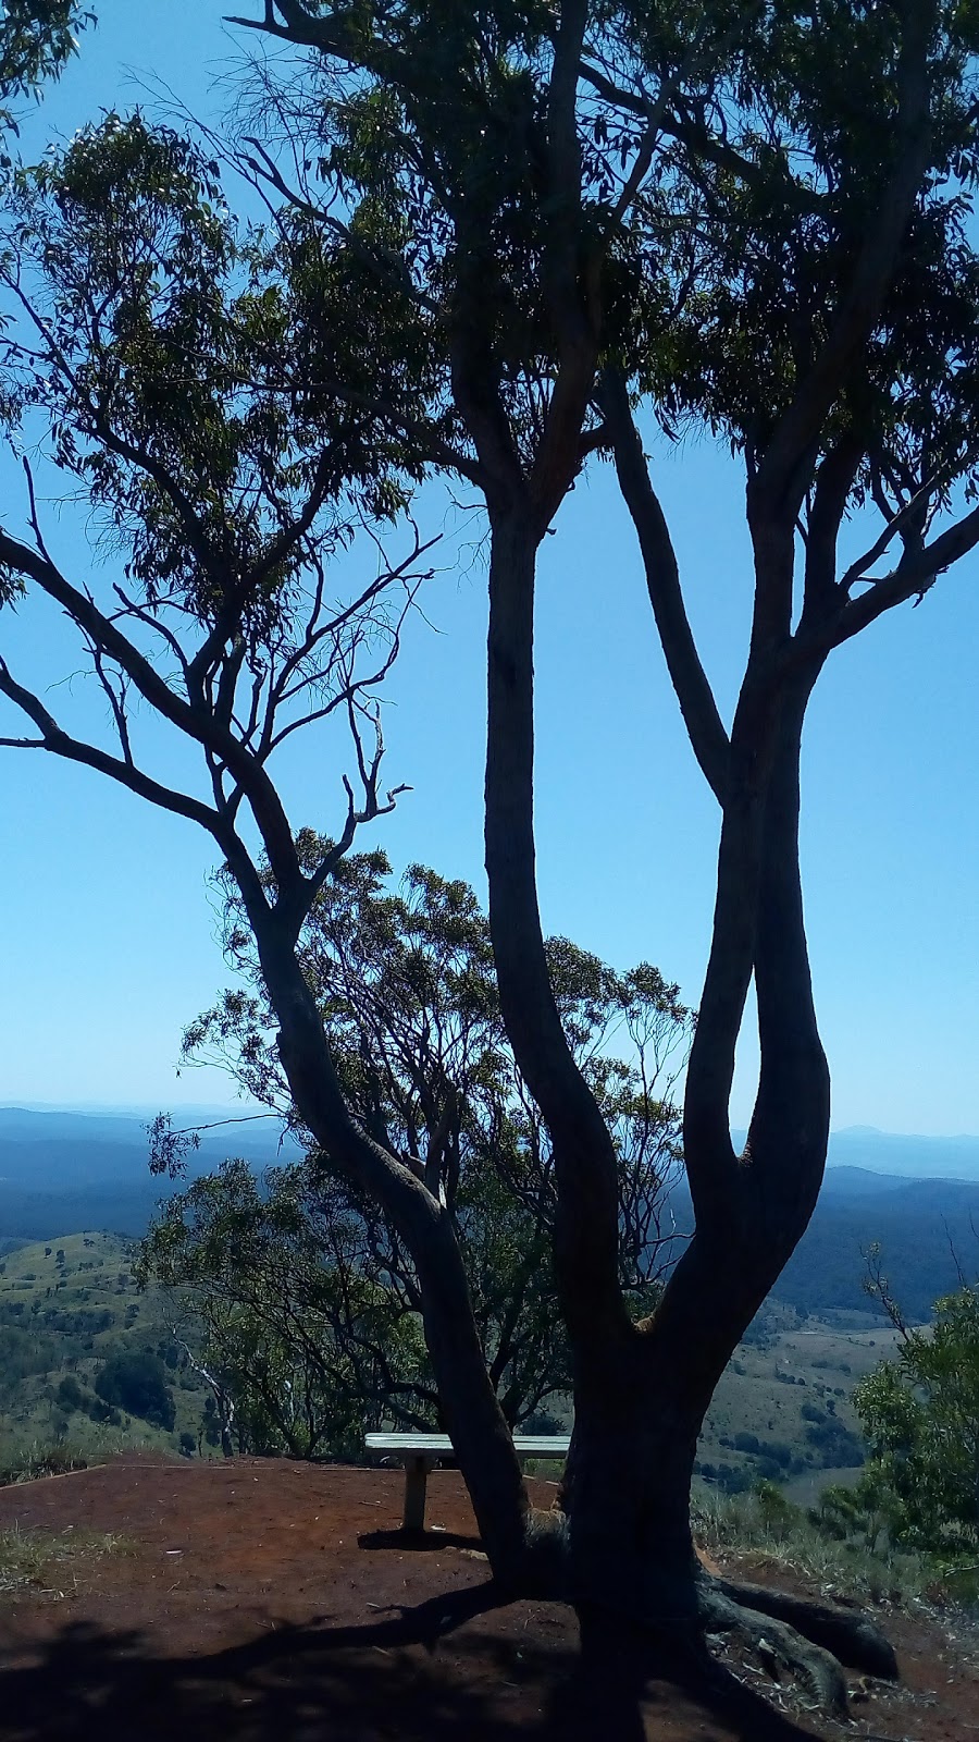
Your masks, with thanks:
[{"label": "clear blue sky seen between the trunks and branches", "polygon": [[[242,0],[258,14],[258,0]],[[99,0],[99,30],[28,145],[70,134],[157,75],[216,117],[214,73],[237,52],[214,0]],[[146,103],[146,99],[143,99]],[[152,106],[146,103],[146,106]],[[749,564],[744,484],[709,444],[657,448],[657,484],[690,611],[725,714],[744,657]],[[21,521],[19,472],[0,462],[3,519]],[[425,531],[442,500],[420,503]],[[84,521],[56,549],[89,571]],[[105,584],[105,573],[101,584]],[[429,589],[392,681],[388,780],[408,780],[375,824],[395,868],[413,859],[483,892],[486,587],[479,552]],[[28,604],[0,634],[47,681],[71,671],[63,625]],[[805,740],[803,873],[833,1122],[979,1132],[979,556],[840,650]],[[700,989],[711,935],[716,805],[686,746],[653,634],[632,531],[596,469],[545,542],[538,631],[538,871],[545,925],[618,967],[646,958]],[[54,700],[66,690],[54,692]],[[89,706],[82,700],[82,706]],[[10,719],[0,732],[10,730]],[[336,831],[343,761],[315,739],[286,793],[296,824]],[[165,747],[160,746],[165,756]],[[0,1103],[219,1103],[214,1073],[174,1063],[183,1024],[228,979],[207,887],[213,852],[192,824],[84,770],[0,751]],[[747,1118],[746,1043],[732,1117]]]}]

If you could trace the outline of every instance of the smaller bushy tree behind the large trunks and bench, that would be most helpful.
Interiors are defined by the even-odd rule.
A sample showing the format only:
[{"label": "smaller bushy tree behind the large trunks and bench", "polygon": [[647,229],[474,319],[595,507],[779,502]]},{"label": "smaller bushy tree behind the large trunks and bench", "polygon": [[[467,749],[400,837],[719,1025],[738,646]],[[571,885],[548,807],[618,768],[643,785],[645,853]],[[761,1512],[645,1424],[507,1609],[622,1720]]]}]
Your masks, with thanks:
[{"label": "smaller bushy tree behind the large trunks and bench", "polygon": [[[301,831],[298,848],[312,869],[329,843]],[[169,1291],[188,1334],[197,1324],[202,1371],[221,1376],[218,1404],[233,1404],[251,1449],[314,1456],[355,1448],[385,1420],[441,1427],[413,1254],[376,1200],[324,1179],[240,892],[226,871],[219,883],[239,984],[190,1024],[185,1056],[230,1070],[307,1153],[272,1169],[265,1190],[230,1162],[169,1198],[143,1242],[143,1273]],[[547,951],[575,1056],[615,1132],[620,1280],[643,1317],[681,1244],[665,1198],[690,1012],[648,963],[617,974],[568,939]],[[347,1106],[451,1219],[490,1381],[519,1428],[570,1392],[571,1374],[554,1310],[552,1150],[500,1017],[486,916],[462,881],[411,866],[392,887],[381,852],[350,854],[312,902],[298,955]],[[178,1134],[164,1124],[159,1136],[159,1165],[179,1165]]]}]

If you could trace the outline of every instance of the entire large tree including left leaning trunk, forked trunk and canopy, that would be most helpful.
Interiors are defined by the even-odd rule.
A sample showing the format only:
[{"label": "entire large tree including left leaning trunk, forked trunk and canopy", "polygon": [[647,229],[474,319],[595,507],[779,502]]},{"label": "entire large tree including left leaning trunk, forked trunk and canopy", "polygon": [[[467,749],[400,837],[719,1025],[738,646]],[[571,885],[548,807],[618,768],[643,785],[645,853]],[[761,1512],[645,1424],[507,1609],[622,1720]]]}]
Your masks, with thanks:
[{"label": "entire large tree including left leaning trunk, forked trunk and canopy", "polygon": [[[232,381],[254,395],[240,420],[247,463],[251,439],[279,441],[284,422],[298,420],[303,455],[312,446],[322,465],[312,470],[317,503],[333,500],[334,465],[345,490],[375,486],[375,502],[383,483],[390,503],[406,474],[439,472],[483,491],[490,927],[503,1023],[552,1146],[554,1265],[575,1383],[564,1516],[549,1533],[563,1589],[582,1606],[625,1608],[653,1625],[763,1632],[827,1698],[841,1700],[826,1648],[887,1669],[894,1658],[883,1643],[834,1611],[735,1590],[704,1573],[688,1488],[711,1392],[807,1226],[826,1158],[829,1077],[798,866],[807,702],[838,645],[927,594],[979,540],[979,510],[967,500],[977,340],[974,12],[939,0],[805,9],[772,0],[735,16],[681,0],[388,0],[373,10],[267,0],[261,16],[239,23],[308,51],[305,71],[294,52],[258,64],[251,138],[242,132],[239,145],[272,207],[277,272],[289,287],[286,298],[275,289],[246,305],[260,340],[246,368],[240,350],[230,355],[230,340],[216,341],[213,322],[199,327],[193,314],[186,324],[179,296],[174,324],[164,321],[157,338],[155,305],[152,319],[139,314],[159,296],[155,268],[117,314],[122,263],[99,235],[129,221],[118,188],[132,171],[113,159],[105,131],[87,160],[84,152],[71,160],[84,167],[84,221],[71,239],[57,225],[78,183],[51,181],[52,202],[45,207],[42,197],[38,211],[28,200],[23,216],[28,239],[44,235],[37,253],[54,284],[51,331],[68,361],[64,369],[42,334],[40,385],[23,357],[24,397],[47,404],[57,460],[82,470],[96,505],[113,503],[113,524],[131,540],[145,591],[120,601],[127,627],[148,631],[159,601],[171,610],[176,599],[207,625],[206,652],[186,658],[186,671],[178,658],[176,683],[167,681],[138,662],[125,629],[98,613],[84,587],[64,580],[38,526],[33,545],[10,533],[0,540],[7,591],[17,580],[47,591],[89,636],[106,676],[120,669],[125,685],[202,744],[213,800],[199,808],[190,794],[153,786],[131,766],[124,737],[117,756],[70,739],[7,667],[0,688],[35,721],[35,746],[101,766],[192,815],[219,843],[254,932],[293,1101],[331,1164],[376,1197],[411,1249],[446,1425],[491,1564],[526,1587],[540,1521],[486,1373],[451,1218],[416,1171],[352,1117],[298,963],[301,920],[336,859],[331,850],[314,873],[301,868],[270,789],[258,718],[253,725],[247,707],[233,714],[230,702],[246,669],[258,679],[249,648],[268,631],[268,615],[277,620],[275,608],[263,610],[261,582],[277,606],[279,559],[287,587],[291,554],[315,510],[305,521],[294,502],[293,493],[310,490],[301,458],[300,477],[287,481],[286,528],[268,526],[263,465],[253,472],[254,516],[240,507],[228,484],[228,441],[233,455],[242,451],[239,423],[223,409],[225,395]],[[96,204],[89,190],[103,152],[108,179]],[[63,165],[51,171],[63,174]],[[165,186],[160,199],[165,207]],[[101,232],[106,216],[110,230]],[[195,277],[197,228],[213,251],[213,221],[202,211],[192,246],[167,254],[172,279],[186,273],[197,287],[193,308],[213,307],[207,286],[221,280],[221,270],[209,270],[207,282]],[[71,258],[105,273],[89,327],[71,314]],[[237,321],[228,331],[240,331]],[[153,362],[159,345],[165,371]],[[125,366],[118,378],[96,368],[101,397],[92,401],[89,361],[115,357],[113,347]],[[213,378],[214,347],[221,368]],[[190,385],[176,366],[188,354],[207,359]],[[125,416],[118,427],[108,413],[125,411],[134,394],[132,432]],[[159,436],[146,409],[153,397]],[[686,618],[636,430],[643,408],[667,432],[716,432],[746,469],[754,613],[730,726]],[[336,434],[319,446],[310,432],[322,441],[327,425]],[[195,448],[197,430],[204,439]],[[190,455],[190,491],[179,490],[174,453]],[[639,1322],[618,1273],[615,1138],[564,1031],[535,888],[535,564],[594,456],[617,467],[657,632],[721,814],[712,946],[685,1099],[697,1232]],[[213,486],[206,467],[218,477]],[[280,488],[275,469],[273,477]],[[854,549],[866,526],[854,561],[840,556],[847,517],[857,526]],[[260,533],[265,557],[256,556]],[[247,599],[228,578],[228,540],[233,577],[258,580]],[[204,697],[202,678],[211,683]],[[113,707],[111,676],[108,685]],[[258,695],[261,704],[261,683]],[[352,718],[364,716],[354,707]],[[336,852],[350,845],[357,815],[383,808],[378,763],[368,753],[359,766],[366,800],[359,812],[350,805]],[[272,895],[235,829],[242,801],[263,838]],[[761,1070],[749,1141],[737,1155],[728,1099],[753,979]],[[760,1610],[777,1613],[761,1622]],[[807,1648],[791,1624],[817,1646]]]}]

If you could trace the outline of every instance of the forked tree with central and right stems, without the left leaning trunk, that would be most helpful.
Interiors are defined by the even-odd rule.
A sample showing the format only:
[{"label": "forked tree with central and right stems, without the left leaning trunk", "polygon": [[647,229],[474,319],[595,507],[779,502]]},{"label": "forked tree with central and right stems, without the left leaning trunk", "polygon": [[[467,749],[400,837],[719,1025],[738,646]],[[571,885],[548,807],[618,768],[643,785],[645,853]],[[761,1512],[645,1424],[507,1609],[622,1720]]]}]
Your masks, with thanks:
[{"label": "forked tree with central and right stems, without the left leaning trunk", "polygon": [[[423,415],[361,402],[486,502],[490,918],[503,1019],[554,1146],[577,1406],[570,1589],[732,1625],[732,1592],[692,1550],[693,1448],[808,1223],[829,1125],[798,859],[807,704],[836,646],[922,599],[979,540],[976,17],[939,0],[267,0],[235,23],[308,51],[305,77],[294,59],[261,63],[240,160],[282,221],[319,226],[387,286],[399,354],[425,357]],[[334,383],[315,352],[296,368]],[[667,434],[707,429],[744,465],[754,608],[730,725],[638,413]],[[617,1275],[615,1146],[563,1030],[535,890],[535,563],[594,455],[615,463],[721,814],[685,1103],[697,1233],[639,1326]],[[850,521],[854,559],[840,554]],[[739,1155],[728,1103],[753,981],[761,1066]],[[502,1439],[493,1458],[512,1495]],[[833,1665],[803,1657],[840,1698]]]}]

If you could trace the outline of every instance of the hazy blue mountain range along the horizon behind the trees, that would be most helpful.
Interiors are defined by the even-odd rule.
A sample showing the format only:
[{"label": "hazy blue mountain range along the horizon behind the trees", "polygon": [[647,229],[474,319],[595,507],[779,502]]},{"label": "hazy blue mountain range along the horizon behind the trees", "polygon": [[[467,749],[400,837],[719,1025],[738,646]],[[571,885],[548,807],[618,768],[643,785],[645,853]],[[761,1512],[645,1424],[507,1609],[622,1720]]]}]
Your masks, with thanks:
[{"label": "hazy blue mountain range along the horizon behind the trees", "polygon": [[[296,1153],[279,1148],[275,1120],[253,1110],[178,1108],[174,1127],[200,1132],[190,1174],[226,1157],[254,1167]],[[148,1118],[136,1113],[0,1108],[0,1242],[49,1240],[80,1230],[143,1233],[160,1197],[178,1190],[148,1171]],[[688,1218],[678,1193],[678,1226]],[[885,1273],[911,1317],[979,1272],[979,1138],[906,1138],[868,1127],[833,1132],[826,1185],[812,1225],[775,1286],[808,1312],[868,1308],[866,1251],[881,1247]]]}]

